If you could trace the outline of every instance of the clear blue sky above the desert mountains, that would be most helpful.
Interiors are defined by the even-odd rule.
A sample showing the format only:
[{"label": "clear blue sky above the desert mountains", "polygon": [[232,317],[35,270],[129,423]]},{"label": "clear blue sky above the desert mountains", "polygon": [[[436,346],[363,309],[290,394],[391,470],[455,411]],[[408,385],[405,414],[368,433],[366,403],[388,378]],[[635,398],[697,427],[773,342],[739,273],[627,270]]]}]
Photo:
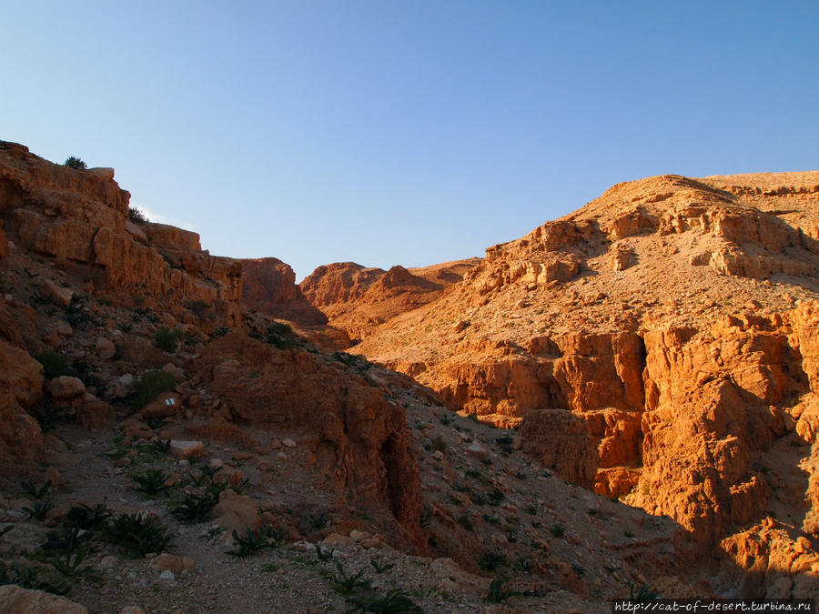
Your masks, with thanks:
[{"label": "clear blue sky above the desert mountains", "polygon": [[819,2],[38,2],[0,139],[212,254],[482,256],[614,183],[819,168]]}]

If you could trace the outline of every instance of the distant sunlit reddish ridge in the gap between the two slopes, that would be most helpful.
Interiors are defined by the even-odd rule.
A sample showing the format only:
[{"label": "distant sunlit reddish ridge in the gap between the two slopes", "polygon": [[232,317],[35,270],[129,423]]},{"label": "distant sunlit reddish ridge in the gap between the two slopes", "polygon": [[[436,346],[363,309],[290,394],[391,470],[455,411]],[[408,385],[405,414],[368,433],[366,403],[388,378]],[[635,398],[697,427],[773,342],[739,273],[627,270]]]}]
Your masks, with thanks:
[{"label": "distant sunlit reddish ridge in the gap between the two slopes", "polygon": [[480,258],[469,258],[431,267],[396,266],[389,271],[337,262],[317,268],[300,287],[333,326],[360,340],[373,327],[436,300],[478,262]]}]

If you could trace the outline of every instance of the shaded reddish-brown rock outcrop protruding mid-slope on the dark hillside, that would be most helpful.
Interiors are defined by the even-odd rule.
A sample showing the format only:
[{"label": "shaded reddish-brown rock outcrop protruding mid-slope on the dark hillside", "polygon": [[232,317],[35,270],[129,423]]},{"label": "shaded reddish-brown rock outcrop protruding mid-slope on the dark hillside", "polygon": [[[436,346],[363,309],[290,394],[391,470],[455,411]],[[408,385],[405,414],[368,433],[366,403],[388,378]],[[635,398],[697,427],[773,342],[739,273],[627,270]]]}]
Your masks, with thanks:
[{"label": "shaded reddish-brown rock outcrop protruding mid-slope on the dark hillside", "polygon": [[[228,358],[226,358],[228,357]],[[335,364],[334,364],[335,363]],[[344,362],[279,350],[236,332],[197,359],[199,377],[238,423],[275,427],[312,453],[312,470],[363,508],[389,509],[420,534],[420,478],[404,410]]]}]

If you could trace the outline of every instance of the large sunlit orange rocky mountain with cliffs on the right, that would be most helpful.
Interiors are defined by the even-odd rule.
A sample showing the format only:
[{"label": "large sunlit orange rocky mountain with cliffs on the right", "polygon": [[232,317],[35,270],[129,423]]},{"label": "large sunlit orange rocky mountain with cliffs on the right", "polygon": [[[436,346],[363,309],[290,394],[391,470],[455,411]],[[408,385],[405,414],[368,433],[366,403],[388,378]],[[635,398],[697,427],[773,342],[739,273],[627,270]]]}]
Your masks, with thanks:
[{"label": "large sunlit orange rocky mountain with cliffs on the right", "polygon": [[[357,351],[454,408],[522,421],[533,457],[581,484],[595,467],[597,492],[708,550],[787,507],[771,458],[814,467],[817,195],[819,173],[614,186],[490,247]],[[782,519],[815,535],[816,480],[800,488],[810,505]]]}]

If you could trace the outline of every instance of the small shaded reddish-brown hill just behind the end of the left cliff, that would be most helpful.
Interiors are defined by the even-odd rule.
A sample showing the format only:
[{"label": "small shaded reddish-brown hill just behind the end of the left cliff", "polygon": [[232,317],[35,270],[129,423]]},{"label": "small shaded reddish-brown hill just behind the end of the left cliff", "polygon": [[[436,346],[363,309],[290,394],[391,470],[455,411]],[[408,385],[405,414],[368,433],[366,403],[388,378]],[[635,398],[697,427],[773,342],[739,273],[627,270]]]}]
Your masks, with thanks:
[{"label": "small shaded reddish-brown hill just behind the end of the left cliff", "polygon": [[296,284],[292,267],[278,258],[243,259],[242,303],[271,317],[303,325],[327,324]]}]

